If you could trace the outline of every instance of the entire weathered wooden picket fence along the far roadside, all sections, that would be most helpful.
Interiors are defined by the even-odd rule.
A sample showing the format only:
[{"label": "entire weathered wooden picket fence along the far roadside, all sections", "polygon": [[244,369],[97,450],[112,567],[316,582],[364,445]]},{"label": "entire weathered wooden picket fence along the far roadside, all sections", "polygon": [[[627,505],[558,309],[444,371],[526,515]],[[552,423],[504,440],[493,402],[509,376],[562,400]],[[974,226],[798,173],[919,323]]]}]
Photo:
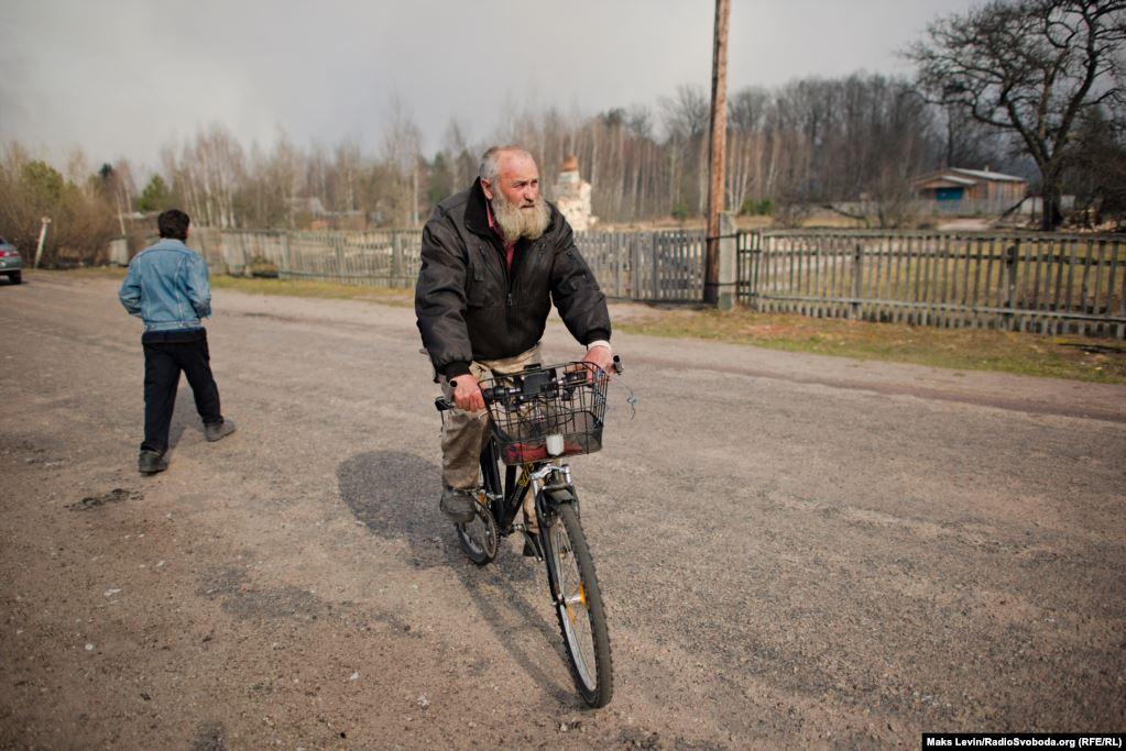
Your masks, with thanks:
[{"label": "entire weathered wooden picket fence along the far roadside, all sections", "polygon": [[[413,286],[421,230],[241,232],[193,238],[213,269]],[[607,297],[703,299],[703,232],[587,232],[575,244]],[[1046,334],[1126,337],[1126,236],[766,230],[736,239],[754,310]]]}]

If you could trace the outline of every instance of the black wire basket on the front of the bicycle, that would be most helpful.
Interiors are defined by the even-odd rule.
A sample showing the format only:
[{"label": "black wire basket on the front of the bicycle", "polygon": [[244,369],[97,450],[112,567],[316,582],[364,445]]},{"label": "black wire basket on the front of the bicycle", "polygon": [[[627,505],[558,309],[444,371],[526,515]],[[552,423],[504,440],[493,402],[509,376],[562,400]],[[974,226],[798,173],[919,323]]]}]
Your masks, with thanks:
[{"label": "black wire basket on the front of the bicycle", "polygon": [[501,461],[524,464],[600,451],[608,382],[589,362],[482,381]]}]

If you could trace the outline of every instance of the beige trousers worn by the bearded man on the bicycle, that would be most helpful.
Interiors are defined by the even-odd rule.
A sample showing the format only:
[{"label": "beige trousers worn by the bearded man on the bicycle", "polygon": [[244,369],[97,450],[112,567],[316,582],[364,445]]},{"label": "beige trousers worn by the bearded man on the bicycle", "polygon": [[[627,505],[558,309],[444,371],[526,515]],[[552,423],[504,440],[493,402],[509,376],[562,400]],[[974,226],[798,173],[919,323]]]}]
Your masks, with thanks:
[{"label": "beige trousers worn by the bearded man on the bicycle", "polygon": [[[539,360],[539,345],[522,352],[515,358],[503,360],[482,360],[470,363],[470,371],[476,379],[492,378],[493,372],[518,373]],[[456,381],[457,378],[455,377]],[[443,396],[448,401],[454,400],[454,389],[449,380],[443,376],[439,379]],[[481,486],[481,452],[489,440],[489,410],[465,411],[457,407],[446,413],[441,428],[441,479],[450,488],[470,489]],[[530,516],[529,516],[530,512]],[[525,521],[535,524],[531,495],[524,499]]]}]

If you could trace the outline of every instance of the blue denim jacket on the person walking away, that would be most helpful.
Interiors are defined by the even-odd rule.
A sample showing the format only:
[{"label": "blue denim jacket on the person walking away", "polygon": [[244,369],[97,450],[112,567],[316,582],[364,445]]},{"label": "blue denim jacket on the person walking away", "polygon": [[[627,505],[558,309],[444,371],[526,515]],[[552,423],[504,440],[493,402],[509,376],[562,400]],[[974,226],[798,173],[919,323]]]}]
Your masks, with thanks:
[{"label": "blue denim jacket on the person walking away", "polygon": [[117,293],[146,332],[202,328],[211,315],[211,282],[203,256],[181,241],[163,237],[129,262]]}]

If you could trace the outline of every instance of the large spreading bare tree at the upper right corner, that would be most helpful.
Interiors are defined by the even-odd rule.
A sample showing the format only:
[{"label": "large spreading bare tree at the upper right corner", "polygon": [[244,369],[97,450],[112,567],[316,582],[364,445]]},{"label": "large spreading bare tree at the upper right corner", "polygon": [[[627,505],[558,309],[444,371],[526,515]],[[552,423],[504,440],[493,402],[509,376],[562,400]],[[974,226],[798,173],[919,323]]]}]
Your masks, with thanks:
[{"label": "large spreading bare tree at the upper right corner", "polygon": [[932,22],[909,47],[932,101],[1015,132],[1040,172],[1044,229],[1060,226],[1063,169],[1083,111],[1121,101],[1123,0],[994,0]]}]

